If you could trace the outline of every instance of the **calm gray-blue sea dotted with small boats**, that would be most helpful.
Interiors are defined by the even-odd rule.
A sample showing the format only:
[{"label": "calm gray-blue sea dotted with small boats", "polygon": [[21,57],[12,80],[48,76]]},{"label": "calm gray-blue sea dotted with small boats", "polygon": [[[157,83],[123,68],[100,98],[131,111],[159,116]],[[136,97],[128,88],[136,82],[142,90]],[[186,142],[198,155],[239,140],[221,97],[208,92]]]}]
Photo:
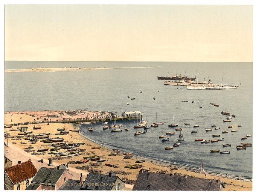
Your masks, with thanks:
[{"label": "calm gray-blue sea dotted with small boats", "polygon": [[[132,68],[132,67],[157,68]],[[141,111],[148,124],[163,122],[151,127],[144,134],[134,136],[136,120],[117,121],[122,132],[103,130],[101,123],[81,125],[81,133],[87,138],[110,148],[133,152],[134,155],[165,163],[187,166],[222,175],[252,178],[253,147],[237,150],[241,137],[253,134],[253,63],[252,62],[50,62],[6,61],[5,69],[61,67],[123,67],[92,71],[57,72],[6,72],[5,111],[37,110],[92,110],[110,111],[121,115],[125,111]],[[213,83],[240,84],[233,90],[186,90],[177,86],[165,86],[157,76],[181,74]],[[142,93],[140,93],[142,92]],[[130,96],[130,98],[128,98]],[[131,98],[136,98],[131,100]],[[155,98],[155,99],[153,99]],[[188,102],[181,102],[188,101]],[[192,104],[194,101],[194,104]],[[126,103],[130,103],[129,105]],[[210,103],[218,104],[214,107]],[[202,108],[200,108],[202,107]],[[226,115],[235,114],[231,122],[224,123]],[[168,127],[173,122],[182,131]],[[109,122],[110,123],[110,122]],[[190,125],[184,125],[190,123]],[[112,124],[112,123],[110,123]],[[199,124],[199,127],[193,127]],[[221,129],[206,132],[211,125]],[[242,127],[238,127],[242,124]],[[233,126],[227,129],[227,126]],[[128,131],[125,131],[128,128]],[[231,129],[238,129],[231,132]],[[190,133],[197,130],[197,133]],[[229,133],[222,134],[223,130]],[[166,132],[169,141],[158,138]],[[173,150],[165,150],[177,142],[182,133],[184,141]],[[224,141],[201,144],[195,139],[215,139],[220,134]],[[252,136],[242,142],[251,142]],[[231,144],[231,147],[222,147]],[[210,150],[230,151],[230,154],[210,153]]]}]

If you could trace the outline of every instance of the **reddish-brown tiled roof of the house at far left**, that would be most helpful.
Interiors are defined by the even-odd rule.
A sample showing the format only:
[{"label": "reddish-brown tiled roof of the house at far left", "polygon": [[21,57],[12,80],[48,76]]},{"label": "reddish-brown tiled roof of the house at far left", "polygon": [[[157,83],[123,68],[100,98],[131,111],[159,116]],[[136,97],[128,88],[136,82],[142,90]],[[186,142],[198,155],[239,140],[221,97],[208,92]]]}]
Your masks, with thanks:
[{"label": "reddish-brown tiled roof of the house at far left", "polygon": [[26,162],[22,162],[20,165],[14,165],[5,169],[6,174],[11,179],[13,184],[20,183],[24,180],[27,180],[31,177],[34,177],[37,173],[37,169],[31,162],[31,160],[27,160]]}]

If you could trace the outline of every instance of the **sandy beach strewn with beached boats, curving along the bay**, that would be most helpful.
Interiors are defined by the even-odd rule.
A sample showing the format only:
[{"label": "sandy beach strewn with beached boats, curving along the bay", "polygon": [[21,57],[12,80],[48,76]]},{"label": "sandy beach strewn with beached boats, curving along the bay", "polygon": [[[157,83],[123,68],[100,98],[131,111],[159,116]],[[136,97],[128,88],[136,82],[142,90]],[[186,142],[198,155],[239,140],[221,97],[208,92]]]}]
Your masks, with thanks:
[{"label": "sandy beach strewn with beached boats, curving along the bay", "polygon": [[[26,121],[35,121],[34,118],[45,118],[47,115],[47,112],[50,113],[54,113],[53,111],[19,111],[18,112],[6,112],[5,113],[5,124],[9,124],[8,121],[10,121],[10,119],[12,119],[12,123],[21,123],[22,121],[24,121],[26,119]],[[62,113],[61,111],[55,111],[57,113]],[[23,114],[21,114],[23,113]],[[27,113],[27,115],[26,115]],[[67,112],[66,112],[67,113]],[[86,115],[88,115],[89,117],[94,115],[95,113],[99,113],[99,112],[90,112],[87,111]],[[29,114],[33,115],[35,114],[35,117],[30,117]],[[56,113],[55,113],[56,114]],[[79,115],[79,117],[83,117],[84,115]],[[65,114],[64,115],[60,115],[59,119],[63,117],[67,117]],[[39,119],[36,119],[38,121],[40,121]],[[106,159],[105,162],[102,162],[101,165],[99,165],[98,167],[90,167],[91,169],[94,169],[96,171],[100,171],[103,174],[105,174],[106,172],[113,170],[117,173],[117,175],[120,178],[127,178],[129,180],[136,180],[137,175],[139,174],[139,170],[140,169],[130,169],[130,168],[125,168],[126,165],[133,165],[133,164],[137,164],[136,160],[141,160],[141,159],[145,159],[145,158],[140,158],[139,156],[136,156],[136,154],[133,154],[133,157],[131,159],[123,159],[123,155],[119,154],[117,156],[108,156],[108,154],[111,154],[111,149],[113,148],[107,148],[104,145],[100,145],[97,144],[93,141],[91,141],[90,139],[85,138],[85,136],[82,136],[79,132],[69,132],[69,134],[67,135],[54,135],[55,133],[59,133],[59,131],[57,131],[56,129],[58,128],[65,128],[67,131],[70,129],[79,129],[79,124],[71,124],[71,123],[49,123],[49,125],[47,125],[47,123],[39,123],[39,124],[27,124],[27,125],[20,125],[20,126],[12,126],[11,128],[16,129],[16,127],[22,127],[22,126],[27,126],[28,127],[28,131],[33,131],[32,134],[39,134],[39,133],[50,133],[50,138],[53,137],[62,137],[64,138],[63,142],[66,143],[80,143],[80,142],[85,142],[84,145],[80,145],[79,148],[82,149],[86,149],[86,151],[82,151],[80,152],[81,155],[79,156],[73,156],[70,159],[61,159],[61,160],[53,160],[53,162],[55,163],[55,165],[57,166],[58,164],[62,164],[62,163],[67,163],[70,161],[75,161],[75,160],[81,160],[83,159],[83,157],[87,157],[87,156],[99,156],[101,157],[101,159]],[[41,127],[41,129],[32,129],[33,127]],[[10,133],[10,136],[17,136],[17,133],[19,131],[10,131],[11,128],[5,128],[4,132],[5,133]],[[7,139],[5,139],[5,142],[7,142]],[[12,142],[16,142],[16,143],[12,143]],[[26,144],[21,144],[21,142],[26,143]],[[24,140],[24,138],[21,138],[19,140],[12,140],[11,138],[8,139],[8,145],[9,145],[9,150],[11,151],[10,154],[13,154],[13,151],[17,151],[22,155],[23,159],[26,159],[24,156],[27,157],[27,159],[34,159],[34,160],[38,160],[38,159],[43,159],[45,166],[47,166],[47,163],[49,163],[48,158],[54,158],[55,155],[52,154],[47,154],[48,152],[46,151],[46,154],[38,156],[38,155],[31,155],[31,153],[26,153],[24,152],[24,147],[28,147],[29,145],[32,145],[32,147],[34,147],[34,150],[37,151],[38,148],[40,147],[48,147],[49,151],[50,148],[53,148],[51,145],[51,143],[48,144],[44,144],[43,142],[36,142],[35,144],[30,144],[28,142],[28,140]],[[101,148],[99,149],[92,149],[91,147],[94,146],[99,146]],[[125,149],[125,148],[124,148]],[[60,151],[65,151],[63,149],[61,149]],[[7,157],[8,155],[7,154]],[[25,155],[26,154],[26,155]],[[51,156],[52,155],[52,156]],[[12,160],[12,157],[14,157],[14,155],[9,156]],[[19,157],[21,157],[19,155]],[[16,157],[17,158],[17,157]],[[17,159],[12,160],[14,161],[13,164],[16,164],[15,162],[17,161]],[[39,163],[39,162],[37,162]],[[81,169],[77,169],[76,166],[83,166],[83,165],[89,165],[91,162],[87,162],[84,164],[70,164],[69,163],[69,169],[70,171],[76,173],[75,175],[77,177],[79,177],[79,172],[83,171],[84,174],[87,173],[86,170],[81,170]],[[94,162],[92,162],[94,163]],[[111,165],[116,165],[118,166],[117,168],[112,168],[109,166],[106,166],[105,163],[109,163]],[[150,172],[157,172],[157,171],[161,171],[161,170],[167,170],[166,174],[170,174],[172,172],[177,173],[177,174],[182,174],[182,175],[190,175],[192,177],[202,177],[202,178],[206,178],[204,176],[204,174],[200,174],[200,169],[198,169],[198,171],[192,170],[189,167],[180,167],[177,170],[173,170],[170,171],[170,167],[172,167],[172,165],[170,164],[165,164],[162,162],[156,162],[155,160],[151,160],[151,159],[146,159],[145,162],[143,163],[139,163],[142,164],[142,168],[151,168]],[[173,165],[175,166],[175,165]],[[39,167],[39,165],[37,165],[37,168]],[[245,180],[245,179],[235,179],[235,178],[230,178],[228,175],[226,175],[225,177],[222,175],[218,175],[218,174],[209,174],[207,173],[206,170],[206,174],[207,174],[207,178],[209,179],[221,179],[224,183],[225,183],[225,188],[224,190],[252,190],[252,181],[250,180]],[[78,178],[76,178],[78,179]],[[127,180],[125,179],[125,180]],[[132,189],[132,186],[127,185],[127,189]]]}]

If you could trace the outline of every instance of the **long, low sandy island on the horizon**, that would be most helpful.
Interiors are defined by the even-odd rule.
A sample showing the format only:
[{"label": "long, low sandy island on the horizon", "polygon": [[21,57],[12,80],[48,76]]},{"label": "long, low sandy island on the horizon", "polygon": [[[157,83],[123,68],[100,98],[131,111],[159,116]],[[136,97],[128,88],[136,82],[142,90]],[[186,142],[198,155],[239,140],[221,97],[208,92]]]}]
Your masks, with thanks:
[{"label": "long, low sandy island on the horizon", "polygon": [[159,68],[161,66],[141,66],[141,67],[113,67],[113,68],[30,68],[30,69],[6,69],[5,72],[56,72],[56,71],[93,71],[93,70],[105,70],[105,69],[125,69],[125,68]]}]

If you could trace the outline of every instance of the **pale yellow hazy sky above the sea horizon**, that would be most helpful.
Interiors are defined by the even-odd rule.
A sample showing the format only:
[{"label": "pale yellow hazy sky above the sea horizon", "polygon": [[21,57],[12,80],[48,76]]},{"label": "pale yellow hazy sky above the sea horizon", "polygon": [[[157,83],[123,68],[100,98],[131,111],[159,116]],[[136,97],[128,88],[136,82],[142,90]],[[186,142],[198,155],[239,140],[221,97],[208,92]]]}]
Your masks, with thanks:
[{"label": "pale yellow hazy sky above the sea horizon", "polygon": [[5,5],[5,60],[253,62],[253,6]]}]

